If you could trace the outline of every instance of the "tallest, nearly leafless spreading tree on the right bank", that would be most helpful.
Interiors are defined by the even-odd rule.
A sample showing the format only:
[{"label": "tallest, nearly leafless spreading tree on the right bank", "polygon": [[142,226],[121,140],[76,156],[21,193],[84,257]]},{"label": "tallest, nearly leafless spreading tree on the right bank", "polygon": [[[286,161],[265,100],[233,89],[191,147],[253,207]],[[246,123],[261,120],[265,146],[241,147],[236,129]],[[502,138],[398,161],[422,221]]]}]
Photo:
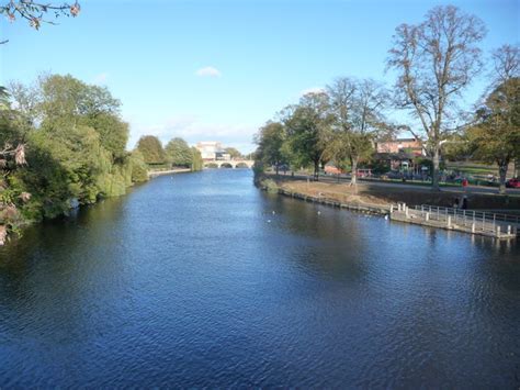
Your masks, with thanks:
[{"label": "tallest, nearly leafless spreading tree on the right bank", "polygon": [[477,44],[485,34],[478,18],[446,5],[430,10],[419,25],[399,25],[394,35],[387,66],[398,74],[396,103],[410,110],[427,135],[436,190],[441,147],[450,132],[446,120],[454,119],[456,98],[482,68]]}]

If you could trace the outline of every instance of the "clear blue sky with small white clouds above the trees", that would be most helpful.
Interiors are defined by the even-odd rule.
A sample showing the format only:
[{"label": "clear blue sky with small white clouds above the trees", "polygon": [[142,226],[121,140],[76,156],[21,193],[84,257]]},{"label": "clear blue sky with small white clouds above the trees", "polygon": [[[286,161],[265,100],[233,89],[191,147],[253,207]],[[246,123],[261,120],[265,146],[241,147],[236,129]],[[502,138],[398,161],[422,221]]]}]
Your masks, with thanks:
[{"label": "clear blue sky with small white clouds above the trees", "polygon": [[[518,43],[515,0],[451,1],[479,16],[483,49]],[[242,152],[252,135],[302,91],[338,76],[385,74],[392,34],[446,2],[429,0],[83,0],[79,18],[34,31],[0,22],[0,83],[42,73],[105,85],[123,103],[133,147],[143,134],[163,142],[222,141]],[[465,98],[483,91],[485,76]]]}]

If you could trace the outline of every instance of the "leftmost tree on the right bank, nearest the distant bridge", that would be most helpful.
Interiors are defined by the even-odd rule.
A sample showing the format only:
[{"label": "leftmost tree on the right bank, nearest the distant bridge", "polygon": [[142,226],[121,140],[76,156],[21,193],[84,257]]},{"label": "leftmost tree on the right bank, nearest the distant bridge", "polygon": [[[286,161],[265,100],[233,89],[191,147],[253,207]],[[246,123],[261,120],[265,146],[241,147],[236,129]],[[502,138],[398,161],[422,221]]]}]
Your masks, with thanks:
[{"label": "leftmost tree on the right bank, nearest the distant bridge", "polygon": [[280,122],[268,122],[260,129],[256,143],[258,144],[256,159],[260,164],[274,166],[276,175],[282,163],[284,163],[284,155],[282,146],[286,140],[285,129]]}]

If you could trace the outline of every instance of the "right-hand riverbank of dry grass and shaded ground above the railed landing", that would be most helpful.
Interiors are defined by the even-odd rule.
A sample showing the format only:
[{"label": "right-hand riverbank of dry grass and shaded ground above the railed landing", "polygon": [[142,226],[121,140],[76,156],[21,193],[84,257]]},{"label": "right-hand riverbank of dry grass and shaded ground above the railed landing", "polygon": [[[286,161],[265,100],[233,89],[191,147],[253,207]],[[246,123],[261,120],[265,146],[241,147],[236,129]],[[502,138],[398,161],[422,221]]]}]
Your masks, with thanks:
[{"label": "right-hand riverbank of dry grass and shaded ground above the railed landing", "polygon": [[453,207],[455,200],[466,197],[467,208],[471,210],[500,210],[516,212],[520,210],[520,197],[495,193],[463,193],[446,189],[432,191],[428,187],[381,186],[378,183],[359,182],[350,186],[344,182],[307,181],[290,176],[259,175],[256,183],[273,192],[297,193],[312,197],[324,202],[341,203],[349,207],[381,208],[389,210],[391,204],[406,203],[409,205]]}]

